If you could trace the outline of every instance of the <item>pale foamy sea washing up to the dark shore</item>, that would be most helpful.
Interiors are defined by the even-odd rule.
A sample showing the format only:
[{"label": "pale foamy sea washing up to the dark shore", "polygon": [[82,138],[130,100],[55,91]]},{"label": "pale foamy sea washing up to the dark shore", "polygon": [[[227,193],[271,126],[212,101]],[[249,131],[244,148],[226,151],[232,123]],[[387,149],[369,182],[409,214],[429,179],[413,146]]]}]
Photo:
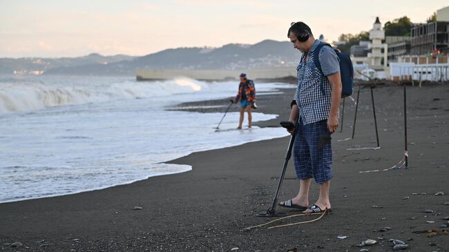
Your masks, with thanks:
[{"label": "pale foamy sea washing up to the dark shore", "polygon": [[[170,110],[236,95],[237,81],[188,78],[0,76],[0,202],[92,191],[184,173],[189,155],[285,137],[283,128],[235,130],[239,115]],[[257,84],[258,95],[289,84]],[[233,105],[236,106],[236,105]],[[277,115],[253,113],[253,121]],[[246,116],[246,115],[245,115]],[[245,124],[247,119],[245,117]],[[193,167],[194,168],[194,167]]]}]

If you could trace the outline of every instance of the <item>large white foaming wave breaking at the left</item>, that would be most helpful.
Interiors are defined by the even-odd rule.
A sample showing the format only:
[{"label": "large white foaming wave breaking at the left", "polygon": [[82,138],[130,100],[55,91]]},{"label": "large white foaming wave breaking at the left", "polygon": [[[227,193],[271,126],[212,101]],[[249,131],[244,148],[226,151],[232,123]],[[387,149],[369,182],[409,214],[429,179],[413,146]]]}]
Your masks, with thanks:
[{"label": "large white foaming wave breaking at the left", "polygon": [[86,83],[81,78],[66,81],[42,78],[1,79],[0,113],[117,99],[145,99],[208,89],[207,83],[189,78],[144,82],[130,79],[102,79],[95,83]]}]

